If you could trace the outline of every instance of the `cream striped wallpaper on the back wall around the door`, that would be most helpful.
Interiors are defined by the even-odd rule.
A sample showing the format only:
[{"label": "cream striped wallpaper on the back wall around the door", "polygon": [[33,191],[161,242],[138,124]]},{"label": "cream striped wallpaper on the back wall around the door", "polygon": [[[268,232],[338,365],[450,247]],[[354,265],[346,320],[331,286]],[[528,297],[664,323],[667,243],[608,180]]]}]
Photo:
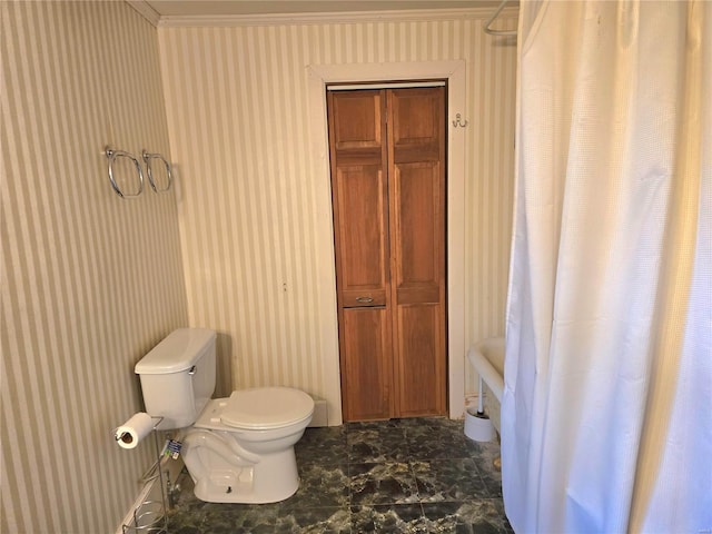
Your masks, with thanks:
[{"label": "cream striped wallpaper on the back wall around the door", "polygon": [[[467,211],[455,221],[465,236],[465,346],[504,332],[516,47],[482,31],[490,14],[159,26],[188,313],[221,334],[221,393],[300,387],[340,421],[338,354],[324,343],[336,339],[336,309],[319,298],[335,288],[333,244],[319,239],[332,222],[310,138],[322,119],[309,107],[315,66],[465,62]],[[515,28],[516,13],[498,23]],[[472,392],[464,350],[454,357]]]}]

